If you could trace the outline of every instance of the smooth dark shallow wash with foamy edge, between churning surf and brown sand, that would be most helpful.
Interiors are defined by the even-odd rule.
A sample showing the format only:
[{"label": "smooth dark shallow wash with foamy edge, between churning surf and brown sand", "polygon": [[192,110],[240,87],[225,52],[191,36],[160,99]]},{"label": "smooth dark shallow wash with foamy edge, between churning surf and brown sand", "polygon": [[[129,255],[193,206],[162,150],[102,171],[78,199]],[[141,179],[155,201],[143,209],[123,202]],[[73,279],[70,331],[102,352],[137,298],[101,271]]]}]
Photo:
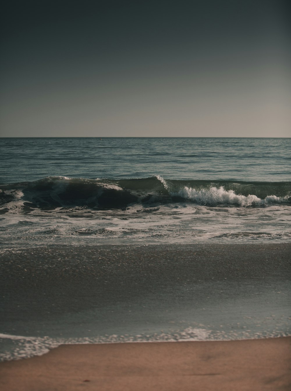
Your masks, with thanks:
[{"label": "smooth dark shallow wash with foamy edge, between churning surf and brown sand", "polygon": [[46,246],[2,251],[0,359],[62,344],[290,335],[290,248]]}]

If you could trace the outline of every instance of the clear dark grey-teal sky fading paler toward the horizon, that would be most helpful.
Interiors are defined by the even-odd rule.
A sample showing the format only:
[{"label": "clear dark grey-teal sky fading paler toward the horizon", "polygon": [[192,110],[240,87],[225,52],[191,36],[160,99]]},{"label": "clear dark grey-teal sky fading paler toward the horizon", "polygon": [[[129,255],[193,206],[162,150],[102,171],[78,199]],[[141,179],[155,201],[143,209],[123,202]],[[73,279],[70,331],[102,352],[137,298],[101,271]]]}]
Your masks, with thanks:
[{"label": "clear dark grey-teal sky fading paler toward the horizon", "polygon": [[283,0],[13,0],[0,136],[291,136]]}]

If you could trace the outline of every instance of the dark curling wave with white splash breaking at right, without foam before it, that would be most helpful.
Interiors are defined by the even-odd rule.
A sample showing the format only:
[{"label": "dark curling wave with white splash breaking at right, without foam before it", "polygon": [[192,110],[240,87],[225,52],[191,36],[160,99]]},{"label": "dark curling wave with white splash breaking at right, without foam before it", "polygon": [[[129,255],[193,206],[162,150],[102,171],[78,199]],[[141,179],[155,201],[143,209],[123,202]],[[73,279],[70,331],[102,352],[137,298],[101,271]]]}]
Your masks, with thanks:
[{"label": "dark curling wave with white splash breaking at right, without foam before it", "polygon": [[172,180],[160,176],[136,179],[47,177],[0,185],[2,213],[17,207],[87,206],[98,210],[124,209],[134,203],[179,201],[211,206],[291,204],[291,182]]}]

